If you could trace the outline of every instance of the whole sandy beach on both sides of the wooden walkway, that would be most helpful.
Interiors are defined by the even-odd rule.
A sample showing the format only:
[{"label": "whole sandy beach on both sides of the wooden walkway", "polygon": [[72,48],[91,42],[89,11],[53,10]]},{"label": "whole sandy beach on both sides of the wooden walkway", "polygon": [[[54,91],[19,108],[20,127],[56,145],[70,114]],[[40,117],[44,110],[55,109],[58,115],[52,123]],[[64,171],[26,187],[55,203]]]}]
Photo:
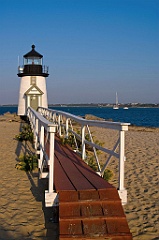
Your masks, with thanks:
[{"label": "whole sandy beach on both sides of the wooden walkway", "polygon": [[[46,181],[37,171],[27,174],[15,164],[23,147],[14,139],[21,122],[17,117],[0,117],[0,240],[58,239],[57,224],[50,221],[52,208],[44,207]],[[93,135],[112,148],[118,132],[94,129]],[[130,127],[125,140],[124,206],[135,240],[159,239],[159,129]],[[101,156],[104,159],[105,156]],[[112,159],[109,168],[117,172]],[[114,176],[112,184],[117,184]],[[51,235],[53,236],[51,238]]]}]

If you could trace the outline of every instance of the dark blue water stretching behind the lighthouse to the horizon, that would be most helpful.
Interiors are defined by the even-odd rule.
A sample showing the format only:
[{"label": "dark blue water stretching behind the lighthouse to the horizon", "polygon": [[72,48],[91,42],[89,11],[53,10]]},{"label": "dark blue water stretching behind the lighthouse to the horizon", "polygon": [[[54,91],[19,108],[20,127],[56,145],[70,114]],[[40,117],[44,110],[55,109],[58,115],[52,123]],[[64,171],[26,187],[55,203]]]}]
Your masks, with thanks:
[{"label": "dark blue water stretching behind the lighthouse to the horizon", "polygon": [[[126,122],[136,126],[159,127],[159,108],[129,108],[128,110],[105,107],[50,107],[60,111],[69,112],[77,116],[92,114],[105,120]],[[0,107],[0,115],[10,112],[16,113],[17,107]]]}]

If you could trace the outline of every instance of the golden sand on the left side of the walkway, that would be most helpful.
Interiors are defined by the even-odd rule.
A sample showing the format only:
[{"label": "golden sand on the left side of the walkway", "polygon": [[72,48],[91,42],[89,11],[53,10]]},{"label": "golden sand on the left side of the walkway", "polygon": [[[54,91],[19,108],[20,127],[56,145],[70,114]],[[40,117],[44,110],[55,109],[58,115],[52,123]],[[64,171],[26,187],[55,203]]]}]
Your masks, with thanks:
[{"label": "golden sand on the left side of the walkway", "polygon": [[0,117],[0,240],[58,239],[53,208],[44,206],[46,180],[15,168],[24,150],[14,139],[20,125],[13,115]]}]

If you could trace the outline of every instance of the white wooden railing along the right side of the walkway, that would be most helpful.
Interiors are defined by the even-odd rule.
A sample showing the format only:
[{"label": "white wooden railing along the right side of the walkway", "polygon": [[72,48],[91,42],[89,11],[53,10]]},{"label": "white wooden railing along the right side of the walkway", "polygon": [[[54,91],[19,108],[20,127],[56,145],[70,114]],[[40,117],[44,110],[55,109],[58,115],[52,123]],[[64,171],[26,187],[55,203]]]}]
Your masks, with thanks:
[{"label": "white wooden railing along the right side of the walkway", "polygon": [[[63,111],[57,111],[47,108],[39,107],[38,111],[49,121],[53,122],[53,124],[58,125],[58,134],[61,136],[62,131],[64,131],[64,137],[68,138],[69,133],[72,133],[75,140],[76,148],[78,149],[76,139],[81,141],[81,157],[83,160],[86,158],[86,144],[91,146],[94,151],[94,156],[96,159],[96,163],[98,166],[98,174],[103,176],[106,167],[108,166],[112,157],[118,159],[119,165],[119,176],[118,176],[118,193],[120,198],[122,199],[122,204],[127,203],[127,190],[124,188],[124,162],[125,162],[125,131],[128,131],[129,123],[119,123],[119,122],[108,122],[108,121],[99,121],[99,120],[86,120],[81,117],[75,116],[70,113],[66,113]],[[77,131],[73,130],[72,122],[78,123],[81,129],[81,133],[77,133]],[[113,147],[112,150],[101,147],[98,144],[93,142],[93,138],[90,132],[89,127],[99,127],[99,128],[106,128],[112,129],[119,132],[119,137]],[[89,135],[89,141],[85,138],[86,137],[86,130]],[[101,150],[108,154],[108,158],[106,159],[104,166],[101,167],[100,161],[98,159],[97,150]],[[117,152],[118,149],[118,152]]]}]

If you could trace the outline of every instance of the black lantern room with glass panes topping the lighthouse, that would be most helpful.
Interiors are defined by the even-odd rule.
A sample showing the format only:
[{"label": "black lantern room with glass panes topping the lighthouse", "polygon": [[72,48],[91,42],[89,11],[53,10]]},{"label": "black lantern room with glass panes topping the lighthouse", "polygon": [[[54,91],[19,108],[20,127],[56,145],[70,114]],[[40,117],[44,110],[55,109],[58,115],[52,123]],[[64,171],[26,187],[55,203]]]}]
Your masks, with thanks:
[{"label": "black lantern room with glass panes topping the lighthouse", "polygon": [[35,45],[32,50],[23,56],[23,67],[18,67],[18,76],[43,76],[48,77],[48,67],[43,66],[43,55],[35,51]]}]

